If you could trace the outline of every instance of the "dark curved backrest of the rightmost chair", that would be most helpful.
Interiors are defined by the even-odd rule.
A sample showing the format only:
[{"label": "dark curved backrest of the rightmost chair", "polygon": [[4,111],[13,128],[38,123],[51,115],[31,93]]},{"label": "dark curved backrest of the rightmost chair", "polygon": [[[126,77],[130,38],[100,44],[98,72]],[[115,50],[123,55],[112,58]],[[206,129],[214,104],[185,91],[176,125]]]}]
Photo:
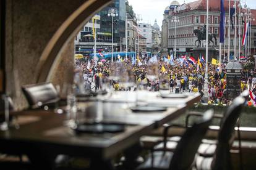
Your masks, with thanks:
[{"label": "dark curved backrest of the rightmost chair", "polygon": [[224,115],[220,131],[218,134],[218,145],[216,147],[215,159],[213,161],[213,169],[231,169],[230,160],[230,141],[234,134],[234,127],[237,119],[241,114],[242,106],[245,103],[244,96],[236,97],[233,103],[228,107],[226,114]]}]

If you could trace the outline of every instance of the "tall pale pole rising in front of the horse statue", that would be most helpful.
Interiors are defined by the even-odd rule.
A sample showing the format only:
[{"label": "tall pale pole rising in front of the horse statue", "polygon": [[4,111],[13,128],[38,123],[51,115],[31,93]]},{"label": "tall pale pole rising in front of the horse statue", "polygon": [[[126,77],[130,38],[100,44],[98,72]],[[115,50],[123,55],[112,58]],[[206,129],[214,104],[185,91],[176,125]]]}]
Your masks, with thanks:
[{"label": "tall pale pole rising in front of the horse statue", "polygon": [[206,34],[206,49],[205,49],[205,83],[203,86],[204,89],[204,97],[208,98],[208,28],[209,28],[209,6],[208,6],[208,0],[207,0],[207,34]]}]

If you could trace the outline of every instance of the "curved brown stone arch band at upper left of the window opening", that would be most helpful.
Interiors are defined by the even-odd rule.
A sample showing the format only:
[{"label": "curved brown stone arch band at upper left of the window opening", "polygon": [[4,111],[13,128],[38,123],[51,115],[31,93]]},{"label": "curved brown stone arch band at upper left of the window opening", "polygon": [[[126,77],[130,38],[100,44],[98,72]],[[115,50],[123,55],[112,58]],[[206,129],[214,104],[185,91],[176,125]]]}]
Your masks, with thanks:
[{"label": "curved brown stone arch band at upper left of the window opening", "polygon": [[75,10],[65,22],[54,33],[44,51],[40,60],[36,65],[36,82],[49,81],[54,66],[58,63],[62,49],[80,30],[89,18],[91,18],[97,10],[106,6],[111,0],[87,0],[77,10]]}]

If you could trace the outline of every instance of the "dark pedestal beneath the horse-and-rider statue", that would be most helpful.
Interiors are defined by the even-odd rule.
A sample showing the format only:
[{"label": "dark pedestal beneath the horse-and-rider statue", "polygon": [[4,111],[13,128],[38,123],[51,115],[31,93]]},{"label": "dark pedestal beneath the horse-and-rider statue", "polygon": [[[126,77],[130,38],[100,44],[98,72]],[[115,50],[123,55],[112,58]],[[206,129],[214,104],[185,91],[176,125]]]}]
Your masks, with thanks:
[{"label": "dark pedestal beneath the horse-and-rider statue", "polygon": [[[195,60],[197,60],[200,57],[200,55],[201,57],[203,56],[203,58],[205,58],[206,60],[205,49],[206,47],[194,47],[192,49],[192,54]],[[219,58],[218,56],[219,56],[218,50],[216,50],[214,47],[208,47],[208,62],[211,62],[212,58],[218,59]]]}]

